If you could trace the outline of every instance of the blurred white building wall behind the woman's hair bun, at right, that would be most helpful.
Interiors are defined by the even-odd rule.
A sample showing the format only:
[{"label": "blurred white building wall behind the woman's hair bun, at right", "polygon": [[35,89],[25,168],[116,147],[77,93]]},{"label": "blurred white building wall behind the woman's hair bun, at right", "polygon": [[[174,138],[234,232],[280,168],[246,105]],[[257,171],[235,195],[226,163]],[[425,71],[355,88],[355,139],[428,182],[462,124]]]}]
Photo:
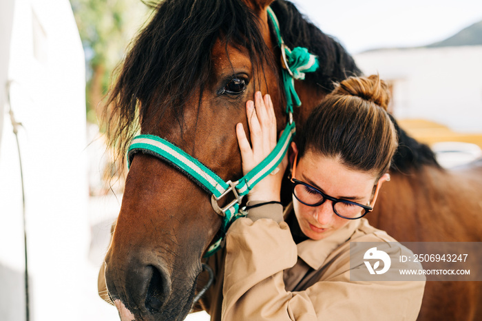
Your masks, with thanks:
[{"label": "blurred white building wall behind the woman's hair bun, at right", "polygon": [[482,45],[377,50],[355,55],[365,74],[394,83],[397,118],[424,118],[482,132]]}]

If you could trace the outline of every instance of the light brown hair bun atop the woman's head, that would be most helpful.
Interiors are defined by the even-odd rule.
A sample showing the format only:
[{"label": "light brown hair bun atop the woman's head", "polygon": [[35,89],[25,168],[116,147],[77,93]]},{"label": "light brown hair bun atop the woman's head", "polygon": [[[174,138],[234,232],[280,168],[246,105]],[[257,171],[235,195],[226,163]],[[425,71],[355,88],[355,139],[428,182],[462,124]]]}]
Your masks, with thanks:
[{"label": "light brown hair bun atop the woman's head", "polygon": [[384,110],[387,110],[390,103],[388,85],[377,74],[368,77],[348,77],[335,87],[332,94],[357,96],[379,105]]}]

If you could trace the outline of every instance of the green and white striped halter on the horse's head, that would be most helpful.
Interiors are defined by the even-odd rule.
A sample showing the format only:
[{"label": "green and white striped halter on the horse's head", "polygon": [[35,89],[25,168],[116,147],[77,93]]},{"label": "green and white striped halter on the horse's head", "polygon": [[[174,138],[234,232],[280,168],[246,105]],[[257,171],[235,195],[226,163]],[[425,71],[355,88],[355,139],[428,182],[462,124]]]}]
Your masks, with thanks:
[{"label": "green and white striped halter on the horse's head", "polygon": [[[132,163],[132,158],[134,158],[135,154],[143,152],[144,154],[155,156],[178,169],[182,174],[185,174],[202,187],[202,189],[207,191],[208,194],[211,194],[211,205],[214,211],[222,217],[222,226],[218,232],[218,240],[209,247],[205,253],[205,257],[213,255],[213,253],[216,253],[216,251],[220,249],[222,240],[231,223],[237,218],[246,215],[243,211],[240,212],[242,198],[249,193],[253,186],[273,172],[277,165],[281,163],[295,134],[293,105],[301,105],[300,98],[295,91],[294,79],[304,79],[304,72],[314,72],[318,68],[316,56],[309,54],[306,48],[298,47],[291,51],[286,47],[281,37],[280,27],[275,13],[269,7],[268,14],[273,23],[277,43],[280,45],[282,52],[282,66],[284,68],[282,70],[282,76],[284,90],[286,92],[286,114],[289,117],[289,121],[286,123],[283,134],[275,149],[273,149],[273,152],[239,180],[235,180],[234,182],[228,180],[225,182],[220,176],[212,172],[211,169],[196,158],[193,158],[193,156],[187,154],[173,143],[159,136],[138,135],[132,139],[127,151],[127,167],[130,167],[130,163]],[[233,194],[234,199],[224,207],[220,207],[218,201],[230,193]]]}]

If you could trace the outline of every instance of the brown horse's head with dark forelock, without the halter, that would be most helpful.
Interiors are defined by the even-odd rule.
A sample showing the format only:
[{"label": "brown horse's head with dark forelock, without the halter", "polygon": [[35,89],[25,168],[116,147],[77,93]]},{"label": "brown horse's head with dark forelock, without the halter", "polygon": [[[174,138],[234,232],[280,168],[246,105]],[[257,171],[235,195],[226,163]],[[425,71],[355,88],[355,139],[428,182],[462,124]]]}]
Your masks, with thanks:
[{"label": "brown horse's head with dark forelock, without the halter", "polygon": [[[298,32],[286,42],[309,43],[316,30],[313,50],[322,63],[328,62],[317,72],[313,88],[297,87],[304,105],[313,107],[347,70],[359,72],[341,45],[304,21],[291,3],[163,1],[127,54],[110,96],[109,125],[120,154],[140,129],[165,138],[223,180],[240,178],[235,124],[247,128],[246,101],[257,90],[269,93],[277,106],[278,130],[286,124],[270,4],[289,20],[282,21],[282,32]],[[317,86],[325,90],[313,90]],[[297,111],[295,118],[302,121],[308,112]],[[158,158],[136,154],[105,257],[111,300],[121,302],[136,320],[185,318],[202,255],[221,224],[202,187]]]}]

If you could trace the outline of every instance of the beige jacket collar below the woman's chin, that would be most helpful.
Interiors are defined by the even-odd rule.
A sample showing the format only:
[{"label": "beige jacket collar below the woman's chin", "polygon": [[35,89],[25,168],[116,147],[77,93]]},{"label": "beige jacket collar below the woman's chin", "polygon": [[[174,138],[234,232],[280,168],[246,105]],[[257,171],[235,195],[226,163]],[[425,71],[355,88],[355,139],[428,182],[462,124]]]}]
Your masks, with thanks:
[{"label": "beige jacket collar below the woman's chin", "polygon": [[[290,203],[284,210],[284,218],[293,211],[293,203]],[[294,214],[294,213],[293,213]],[[298,256],[312,269],[319,269],[326,258],[355,233],[355,230],[362,223],[362,219],[350,220],[347,225],[333,232],[322,240],[304,240],[297,244]]]}]

